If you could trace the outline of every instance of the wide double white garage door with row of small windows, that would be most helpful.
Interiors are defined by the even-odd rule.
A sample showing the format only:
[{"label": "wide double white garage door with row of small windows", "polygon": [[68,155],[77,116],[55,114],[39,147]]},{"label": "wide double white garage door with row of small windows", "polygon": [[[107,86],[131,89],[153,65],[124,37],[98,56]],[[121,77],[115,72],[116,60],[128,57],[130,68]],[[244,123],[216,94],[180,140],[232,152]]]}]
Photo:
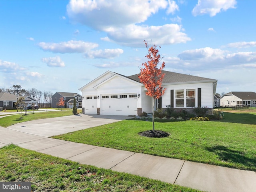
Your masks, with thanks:
[{"label": "wide double white garage door with row of small windows", "polygon": [[102,115],[137,115],[137,94],[101,96]]}]

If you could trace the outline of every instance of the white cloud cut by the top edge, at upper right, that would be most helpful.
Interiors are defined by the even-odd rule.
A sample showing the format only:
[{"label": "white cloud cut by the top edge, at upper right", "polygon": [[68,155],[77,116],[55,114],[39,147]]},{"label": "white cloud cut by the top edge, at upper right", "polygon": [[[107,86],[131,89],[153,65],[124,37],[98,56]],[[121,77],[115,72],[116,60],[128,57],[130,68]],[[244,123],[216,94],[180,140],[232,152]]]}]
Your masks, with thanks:
[{"label": "white cloud cut by the top edge, at upper right", "polygon": [[236,8],[236,0],[198,0],[197,5],[192,10],[192,15],[209,14],[213,17],[217,13],[230,8]]}]

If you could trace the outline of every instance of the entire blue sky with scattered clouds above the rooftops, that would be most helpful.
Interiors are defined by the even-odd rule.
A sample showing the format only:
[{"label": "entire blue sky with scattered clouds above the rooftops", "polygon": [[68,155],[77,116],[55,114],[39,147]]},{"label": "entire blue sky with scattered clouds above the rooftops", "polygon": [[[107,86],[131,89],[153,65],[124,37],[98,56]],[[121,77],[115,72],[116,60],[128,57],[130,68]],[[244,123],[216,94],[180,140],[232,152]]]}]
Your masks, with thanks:
[{"label": "entire blue sky with scattered clouds above the rooftops", "polygon": [[164,70],[256,92],[256,1],[0,1],[0,88],[77,92],[107,70],[137,74],[149,44]]}]

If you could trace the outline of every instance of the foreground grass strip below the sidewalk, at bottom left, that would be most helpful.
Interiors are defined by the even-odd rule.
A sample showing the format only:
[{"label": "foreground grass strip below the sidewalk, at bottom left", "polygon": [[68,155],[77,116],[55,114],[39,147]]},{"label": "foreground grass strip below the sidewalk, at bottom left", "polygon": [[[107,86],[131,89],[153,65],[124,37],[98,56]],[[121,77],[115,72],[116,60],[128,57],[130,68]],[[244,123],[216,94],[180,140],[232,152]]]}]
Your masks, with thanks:
[{"label": "foreground grass strip below the sidewalk, at bottom left", "polygon": [[197,192],[158,180],[114,172],[26,150],[14,144],[0,148],[0,181],[32,182],[36,192]]}]

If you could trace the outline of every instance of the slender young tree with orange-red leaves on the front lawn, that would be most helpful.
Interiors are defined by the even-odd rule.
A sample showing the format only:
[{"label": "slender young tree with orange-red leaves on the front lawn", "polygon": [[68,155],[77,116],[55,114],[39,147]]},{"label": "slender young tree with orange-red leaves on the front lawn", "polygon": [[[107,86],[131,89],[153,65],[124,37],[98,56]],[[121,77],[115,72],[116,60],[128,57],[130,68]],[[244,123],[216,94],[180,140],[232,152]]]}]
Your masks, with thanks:
[{"label": "slender young tree with orange-red leaves on the front lawn", "polygon": [[[154,108],[155,108],[155,101],[156,99],[159,99],[165,92],[166,88],[162,87],[162,81],[164,78],[164,75],[162,73],[162,70],[165,67],[165,63],[162,62],[162,66],[158,68],[158,63],[162,59],[160,54],[158,54],[158,49],[156,48],[156,45],[148,47],[148,43],[146,41],[145,45],[146,48],[148,48],[148,54],[145,56],[148,58],[148,62],[144,62],[142,66],[144,68],[140,68],[140,75],[139,79],[140,82],[145,86],[147,89],[146,95],[153,98],[153,115],[152,115],[152,125],[153,125],[153,131],[155,130],[154,127]],[[161,47],[159,47],[161,48]]]}]

